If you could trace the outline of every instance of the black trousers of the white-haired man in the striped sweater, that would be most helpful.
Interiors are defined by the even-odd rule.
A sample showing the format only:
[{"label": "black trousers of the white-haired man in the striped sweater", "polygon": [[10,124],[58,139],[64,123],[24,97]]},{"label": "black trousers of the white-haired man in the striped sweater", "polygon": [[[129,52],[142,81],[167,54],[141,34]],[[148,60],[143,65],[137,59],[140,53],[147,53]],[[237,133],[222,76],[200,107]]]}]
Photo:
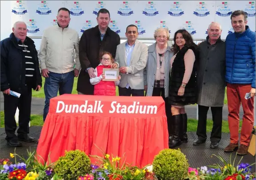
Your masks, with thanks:
[{"label": "black trousers of the white-haired man in the striped sweater", "polygon": [[29,133],[29,121],[31,114],[32,88],[25,86],[22,88],[20,98],[4,94],[4,129],[6,140],[18,140],[15,135],[17,128],[15,113],[19,108],[19,129],[18,136],[27,138]]}]

